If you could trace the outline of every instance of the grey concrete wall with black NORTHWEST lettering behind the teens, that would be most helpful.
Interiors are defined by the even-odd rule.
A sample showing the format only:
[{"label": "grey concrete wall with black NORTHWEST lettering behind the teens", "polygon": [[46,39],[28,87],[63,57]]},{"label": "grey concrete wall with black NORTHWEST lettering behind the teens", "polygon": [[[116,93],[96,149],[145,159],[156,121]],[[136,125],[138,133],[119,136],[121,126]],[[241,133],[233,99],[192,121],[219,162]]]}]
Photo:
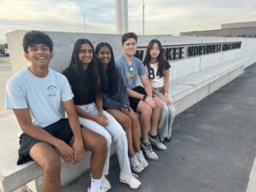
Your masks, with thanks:
[{"label": "grey concrete wall with black NORTHWEST lettering behind the teens", "polygon": [[[22,49],[22,38],[26,31],[7,33],[10,59],[14,71],[28,66]],[[108,42],[113,46],[114,55],[122,54],[121,35],[74,33],[74,32],[46,32],[54,42],[54,58],[50,67],[61,72],[68,66],[71,58],[73,44],[78,38],[88,38],[96,46],[100,42]],[[147,46],[152,38],[158,38],[163,45],[193,45],[216,44],[241,41],[241,49],[189,57],[181,60],[170,61],[172,65],[171,80],[182,78],[190,73],[199,72],[207,67],[218,65],[224,61],[241,60],[244,57],[256,55],[256,38],[206,38],[206,37],[170,37],[170,36],[139,36],[138,46]],[[253,63],[253,61],[252,61]]]}]

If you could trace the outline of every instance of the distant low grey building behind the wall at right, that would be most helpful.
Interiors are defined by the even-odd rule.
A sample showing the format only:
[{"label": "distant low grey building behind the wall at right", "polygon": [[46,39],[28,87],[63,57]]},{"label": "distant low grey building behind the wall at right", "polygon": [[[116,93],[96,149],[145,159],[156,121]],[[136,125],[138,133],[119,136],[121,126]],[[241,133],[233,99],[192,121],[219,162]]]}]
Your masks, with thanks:
[{"label": "distant low grey building behind the wall at right", "polygon": [[226,23],[215,30],[180,32],[180,36],[256,38],[256,21]]}]

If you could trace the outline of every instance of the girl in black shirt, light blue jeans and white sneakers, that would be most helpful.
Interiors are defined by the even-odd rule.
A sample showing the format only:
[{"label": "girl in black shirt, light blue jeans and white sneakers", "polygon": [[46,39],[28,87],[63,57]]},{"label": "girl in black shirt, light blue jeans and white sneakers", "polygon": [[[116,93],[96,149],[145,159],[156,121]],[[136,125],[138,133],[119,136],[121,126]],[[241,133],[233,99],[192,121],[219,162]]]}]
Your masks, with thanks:
[{"label": "girl in black shirt, light blue jeans and white sneakers", "polygon": [[[71,84],[80,124],[107,139],[108,153],[103,175],[108,175],[111,137],[113,137],[120,166],[119,180],[129,184],[132,189],[137,189],[141,183],[131,174],[125,131],[111,114],[102,110],[102,94],[96,57],[93,45],[88,39],[76,41],[70,65],[63,74]],[[111,188],[106,177],[102,177],[102,188],[105,190]]]}]

